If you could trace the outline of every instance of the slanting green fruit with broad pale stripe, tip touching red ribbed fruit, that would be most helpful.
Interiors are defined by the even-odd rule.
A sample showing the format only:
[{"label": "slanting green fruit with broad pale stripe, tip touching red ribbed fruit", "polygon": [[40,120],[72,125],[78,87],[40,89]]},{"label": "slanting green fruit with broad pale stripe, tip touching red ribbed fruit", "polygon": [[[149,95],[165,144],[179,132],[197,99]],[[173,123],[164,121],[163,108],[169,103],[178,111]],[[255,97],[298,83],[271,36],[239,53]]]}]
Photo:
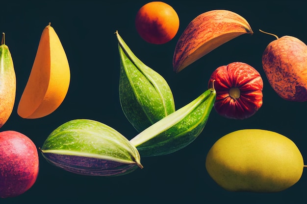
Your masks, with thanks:
[{"label": "slanting green fruit with broad pale stripe, tip touching red ribbed fruit", "polygon": [[205,91],[189,104],[133,137],[130,142],[141,157],[167,155],[184,148],[202,133],[215,98],[214,89]]}]

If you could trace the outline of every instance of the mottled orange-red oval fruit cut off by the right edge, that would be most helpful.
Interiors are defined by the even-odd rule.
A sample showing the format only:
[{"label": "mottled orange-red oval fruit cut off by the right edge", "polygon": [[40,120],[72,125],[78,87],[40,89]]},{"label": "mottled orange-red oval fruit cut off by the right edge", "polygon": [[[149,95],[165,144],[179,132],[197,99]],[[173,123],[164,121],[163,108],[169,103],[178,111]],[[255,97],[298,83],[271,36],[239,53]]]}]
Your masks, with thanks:
[{"label": "mottled orange-red oval fruit cut off by the right edge", "polygon": [[272,41],[262,67],[274,91],[284,100],[307,101],[307,45],[292,36]]}]

